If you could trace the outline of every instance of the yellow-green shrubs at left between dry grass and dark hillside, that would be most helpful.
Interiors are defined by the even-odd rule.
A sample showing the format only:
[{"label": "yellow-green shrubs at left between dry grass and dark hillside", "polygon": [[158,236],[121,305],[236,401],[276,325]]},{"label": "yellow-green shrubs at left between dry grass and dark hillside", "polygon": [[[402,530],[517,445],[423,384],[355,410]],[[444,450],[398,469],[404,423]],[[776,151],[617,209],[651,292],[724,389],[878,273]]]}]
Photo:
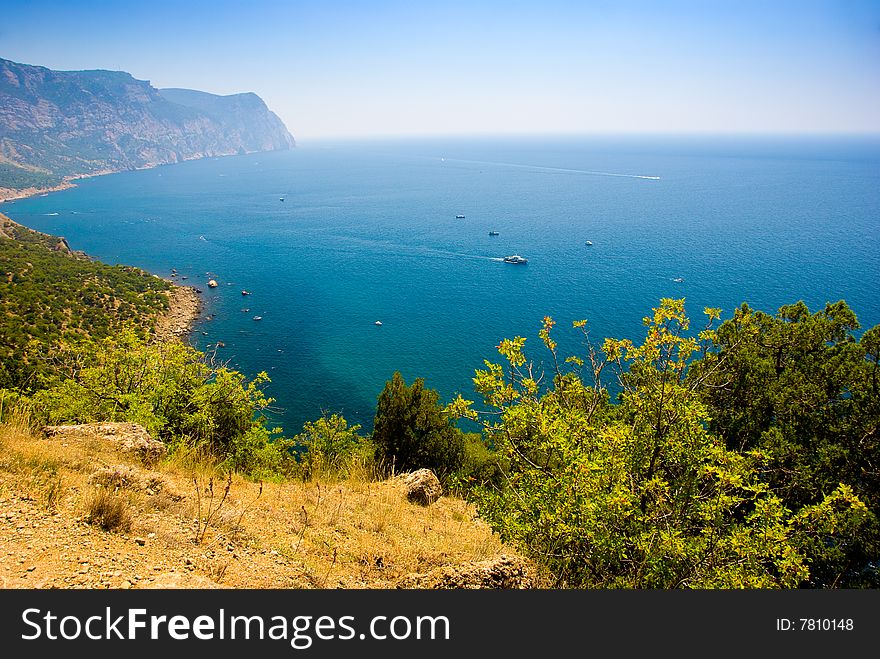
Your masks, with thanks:
[{"label": "yellow-green shrubs at left between dry grass and dark hillside", "polygon": [[252,475],[277,471],[286,444],[271,441],[261,412],[265,373],[247,381],[180,343],[147,344],[135,332],[50,355],[54,382],[31,397],[45,423],[131,421],[169,445],[209,452]]}]

